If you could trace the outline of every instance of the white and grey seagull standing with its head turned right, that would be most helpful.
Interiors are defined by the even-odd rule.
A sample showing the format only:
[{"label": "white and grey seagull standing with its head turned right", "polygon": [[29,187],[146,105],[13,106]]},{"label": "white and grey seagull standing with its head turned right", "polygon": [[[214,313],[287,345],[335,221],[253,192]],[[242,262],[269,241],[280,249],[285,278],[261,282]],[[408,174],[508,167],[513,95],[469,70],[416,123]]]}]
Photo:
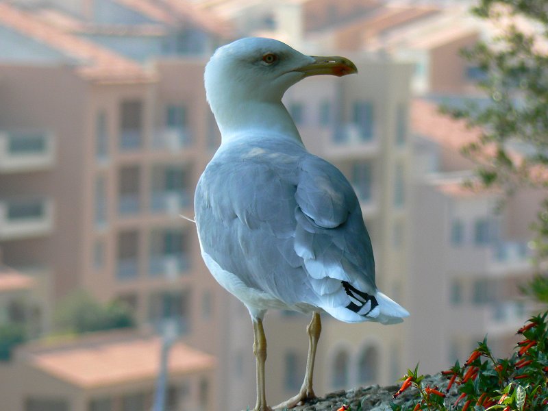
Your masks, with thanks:
[{"label": "white and grey seagull standing with its head turned right", "polygon": [[282,104],[301,79],[357,72],[347,58],[304,55],[269,38],[236,40],[206,65],[206,97],[221,145],[197,184],[195,223],[209,271],[251,314],[255,411],[272,409],[264,381],[267,310],[312,314],[303,385],[275,408],[315,397],[321,313],[383,324],[409,315],[375,286],[371,240],[351,184],[306,150]]}]

